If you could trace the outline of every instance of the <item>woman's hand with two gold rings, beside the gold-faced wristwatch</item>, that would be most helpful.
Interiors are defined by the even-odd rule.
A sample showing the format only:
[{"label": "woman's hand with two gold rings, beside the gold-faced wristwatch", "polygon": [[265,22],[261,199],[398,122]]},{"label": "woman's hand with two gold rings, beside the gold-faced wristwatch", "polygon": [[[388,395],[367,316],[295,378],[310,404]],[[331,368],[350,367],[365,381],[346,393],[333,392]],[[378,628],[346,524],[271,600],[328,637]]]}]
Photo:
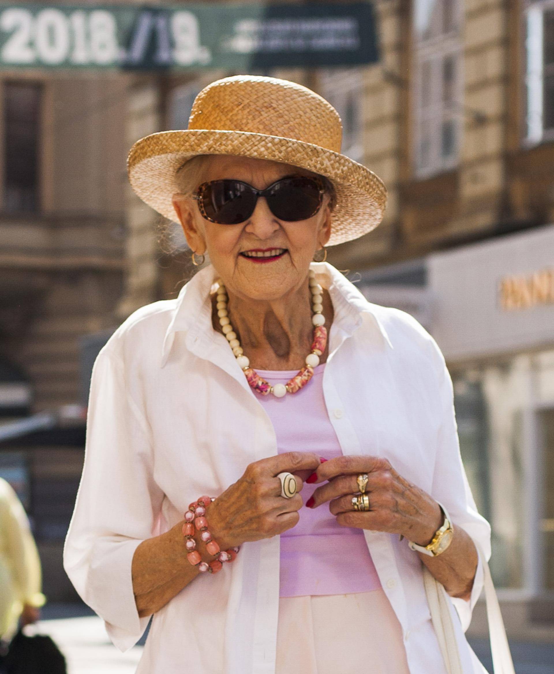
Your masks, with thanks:
[{"label": "woman's hand with two gold rings, beside the gold-faced wristwatch", "polygon": [[[367,473],[365,493],[369,510],[354,510],[352,495],[360,492],[359,474]],[[342,526],[402,534],[418,545],[428,545],[443,524],[441,508],[423,489],[398,474],[386,458],[377,456],[337,456],[322,463],[315,473],[317,487],[313,505],[330,501],[329,510]],[[306,505],[311,505],[311,499]]]}]

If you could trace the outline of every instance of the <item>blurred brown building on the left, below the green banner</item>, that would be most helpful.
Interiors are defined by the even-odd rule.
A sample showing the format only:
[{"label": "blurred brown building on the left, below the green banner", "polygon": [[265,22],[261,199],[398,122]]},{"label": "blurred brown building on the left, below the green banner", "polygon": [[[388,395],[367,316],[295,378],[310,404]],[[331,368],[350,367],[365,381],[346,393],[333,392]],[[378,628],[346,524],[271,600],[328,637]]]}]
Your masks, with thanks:
[{"label": "blurred brown building on the left, below the green banner", "polygon": [[127,75],[0,71],[0,470],[50,599],[83,462],[82,338],[110,326],[125,259]]}]

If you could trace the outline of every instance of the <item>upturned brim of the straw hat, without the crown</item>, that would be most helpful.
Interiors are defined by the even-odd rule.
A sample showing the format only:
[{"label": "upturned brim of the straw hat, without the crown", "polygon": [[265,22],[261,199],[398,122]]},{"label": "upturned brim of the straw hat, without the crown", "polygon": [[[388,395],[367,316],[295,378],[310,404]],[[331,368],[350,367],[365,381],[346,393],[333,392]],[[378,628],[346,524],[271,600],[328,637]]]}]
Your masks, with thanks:
[{"label": "upturned brim of the straw hat, without the crown", "polygon": [[135,193],[169,220],[177,220],[171,197],[177,168],[198,154],[231,154],[301,166],[328,177],[336,189],[328,246],[371,232],[383,218],[387,190],[369,168],[340,152],[264,133],[183,129],[159,131],[138,140],[127,158]]}]

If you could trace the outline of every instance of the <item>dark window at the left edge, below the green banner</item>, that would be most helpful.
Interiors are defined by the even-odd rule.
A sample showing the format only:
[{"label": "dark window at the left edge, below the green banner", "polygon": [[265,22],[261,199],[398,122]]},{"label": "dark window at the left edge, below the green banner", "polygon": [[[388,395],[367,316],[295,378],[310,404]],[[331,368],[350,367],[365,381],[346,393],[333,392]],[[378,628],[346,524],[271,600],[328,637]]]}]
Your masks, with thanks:
[{"label": "dark window at the left edge, below the green banner", "polygon": [[40,84],[4,82],[3,210],[9,213],[40,209],[39,143]]}]

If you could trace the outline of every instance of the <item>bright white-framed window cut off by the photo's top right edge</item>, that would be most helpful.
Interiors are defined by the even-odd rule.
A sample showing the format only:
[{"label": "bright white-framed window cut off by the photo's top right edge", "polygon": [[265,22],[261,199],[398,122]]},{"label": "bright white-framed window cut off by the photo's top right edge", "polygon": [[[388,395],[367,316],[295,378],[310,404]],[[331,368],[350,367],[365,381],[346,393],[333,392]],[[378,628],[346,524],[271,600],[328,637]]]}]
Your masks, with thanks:
[{"label": "bright white-framed window cut off by the photo's top right edge", "polygon": [[554,139],[554,0],[526,7],[526,141]]}]

